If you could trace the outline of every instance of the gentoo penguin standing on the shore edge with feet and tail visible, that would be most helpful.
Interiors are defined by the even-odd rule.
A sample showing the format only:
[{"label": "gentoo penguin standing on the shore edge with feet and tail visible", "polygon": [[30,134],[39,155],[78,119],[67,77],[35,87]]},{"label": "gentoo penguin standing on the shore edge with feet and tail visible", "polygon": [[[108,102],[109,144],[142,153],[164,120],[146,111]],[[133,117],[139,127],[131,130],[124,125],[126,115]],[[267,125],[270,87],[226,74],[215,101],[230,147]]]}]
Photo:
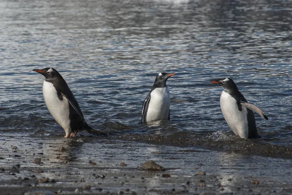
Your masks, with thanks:
[{"label": "gentoo penguin standing on the shore edge with feet and tail visible", "polygon": [[82,111],[73,93],[61,74],[53,68],[34,69],[45,76],[43,95],[49,112],[65,130],[65,138],[73,137],[79,130],[87,130],[95,135],[104,133],[92,129],[84,120]]}]

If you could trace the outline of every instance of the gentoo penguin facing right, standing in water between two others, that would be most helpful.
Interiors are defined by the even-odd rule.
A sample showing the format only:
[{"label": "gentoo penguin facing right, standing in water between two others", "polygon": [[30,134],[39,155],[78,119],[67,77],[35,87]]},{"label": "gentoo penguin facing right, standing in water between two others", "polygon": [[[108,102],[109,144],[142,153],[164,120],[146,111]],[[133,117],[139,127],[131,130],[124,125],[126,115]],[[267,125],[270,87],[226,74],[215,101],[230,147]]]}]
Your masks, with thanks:
[{"label": "gentoo penguin facing right, standing in water between two others", "polygon": [[170,119],[170,95],[166,81],[174,73],[161,72],[156,76],[154,85],[142,107],[142,123]]}]

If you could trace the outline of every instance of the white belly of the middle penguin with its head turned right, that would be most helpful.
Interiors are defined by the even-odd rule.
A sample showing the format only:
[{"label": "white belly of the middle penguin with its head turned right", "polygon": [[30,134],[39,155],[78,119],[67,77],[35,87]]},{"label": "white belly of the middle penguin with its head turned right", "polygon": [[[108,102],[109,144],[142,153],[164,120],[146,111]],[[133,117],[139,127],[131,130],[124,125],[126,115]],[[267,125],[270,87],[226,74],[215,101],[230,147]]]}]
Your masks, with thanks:
[{"label": "white belly of the middle penguin with its head turned right", "polygon": [[167,88],[156,88],[151,92],[146,122],[168,118],[170,95]]}]

